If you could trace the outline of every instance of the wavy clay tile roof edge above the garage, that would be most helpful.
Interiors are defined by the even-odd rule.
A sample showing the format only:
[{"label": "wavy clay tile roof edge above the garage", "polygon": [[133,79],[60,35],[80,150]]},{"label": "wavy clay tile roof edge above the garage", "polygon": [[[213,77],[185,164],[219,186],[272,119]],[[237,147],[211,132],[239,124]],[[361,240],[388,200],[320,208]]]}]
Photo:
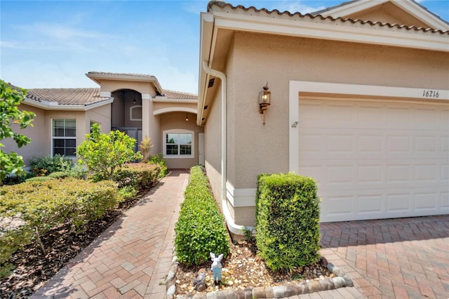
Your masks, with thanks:
[{"label": "wavy clay tile roof edge above the garage", "polygon": [[[354,0],[355,1],[355,0]],[[340,4],[340,6],[342,5],[347,5],[350,4],[354,1],[349,1],[349,2],[345,2],[343,4]],[[296,16],[302,19],[306,19],[308,18],[309,20],[327,20],[327,21],[331,21],[331,22],[336,22],[336,21],[340,21],[340,22],[349,22],[351,24],[361,24],[361,25],[370,25],[370,26],[377,26],[377,27],[389,27],[389,28],[398,28],[398,29],[404,29],[404,30],[414,30],[414,31],[421,31],[421,32],[430,32],[430,33],[438,33],[438,34],[448,34],[449,35],[449,30],[441,30],[441,29],[433,29],[433,28],[424,28],[424,27],[416,27],[416,26],[407,26],[407,25],[398,25],[398,24],[390,24],[390,23],[382,23],[382,22],[372,22],[372,21],[364,21],[364,20],[352,20],[350,18],[333,18],[332,16],[328,16],[328,17],[324,17],[323,15],[317,14],[319,12],[323,12],[323,11],[327,11],[323,10],[323,11],[319,11],[316,13],[307,13],[305,15],[303,15],[302,13],[290,13],[290,11],[278,11],[277,9],[274,9],[273,11],[269,11],[267,8],[255,8],[254,6],[250,6],[248,8],[246,8],[245,6],[239,5],[239,6],[232,6],[232,4],[228,4],[225,1],[209,1],[208,3],[208,12],[212,11],[212,7],[213,6],[218,6],[219,8],[230,8],[234,11],[236,10],[242,10],[245,12],[248,11],[254,11],[255,13],[260,13],[260,12],[264,12],[267,13],[268,15],[280,15],[280,16]],[[334,6],[333,8],[335,8],[337,6]],[[330,9],[330,8],[328,8]]]}]

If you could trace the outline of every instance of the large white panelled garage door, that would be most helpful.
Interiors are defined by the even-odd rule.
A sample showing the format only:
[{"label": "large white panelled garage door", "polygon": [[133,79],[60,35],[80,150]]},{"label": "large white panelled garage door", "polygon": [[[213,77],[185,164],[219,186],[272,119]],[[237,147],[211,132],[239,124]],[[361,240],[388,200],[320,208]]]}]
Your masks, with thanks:
[{"label": "large white panelled garage door", "polygon": [[449,213],[449,105],[303,100],[300,174],[319,183],[321,221]]}]

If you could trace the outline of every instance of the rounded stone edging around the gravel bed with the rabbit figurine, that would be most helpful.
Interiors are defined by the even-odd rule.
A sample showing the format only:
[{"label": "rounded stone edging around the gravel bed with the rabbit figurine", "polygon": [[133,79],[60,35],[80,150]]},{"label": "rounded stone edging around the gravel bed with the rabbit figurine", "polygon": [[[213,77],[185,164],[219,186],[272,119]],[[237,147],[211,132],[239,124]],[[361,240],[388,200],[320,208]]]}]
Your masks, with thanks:
[{"label": "rounded stone edging around the gravel bed with the rabbit figurine", "polygon": [[[177,271],[177,256],[174,255],[170,270],[166,279],[166,299],[175,298],[176,285],[175,276]],[[335,277],[324,277],[318,280],[301,281],[300,283],[286,284],[283,286],[258,286],[256,288],[248,286],[245,289],[228,289],[223,291],[213,291],[210,293],[196,293],[195,295],[177,295],[179,299],[253,299],[253,298],[286,298],[294,295],[303,295],[319,291],[334,290],[345,286],[354,286],[352,279],[344,274],[333,263],[327,265],[330,273]]]}]

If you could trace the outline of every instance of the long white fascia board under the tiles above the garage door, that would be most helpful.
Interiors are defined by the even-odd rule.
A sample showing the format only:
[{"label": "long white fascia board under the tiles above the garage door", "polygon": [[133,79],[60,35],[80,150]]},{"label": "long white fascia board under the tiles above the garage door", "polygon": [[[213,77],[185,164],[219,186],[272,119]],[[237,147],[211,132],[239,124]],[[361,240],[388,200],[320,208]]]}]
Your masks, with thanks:
[{"label": "long white fascia board under the tiles above the garage door", "polygon": [[372,25],[345,24],[344,22],[309,22],[275,19],[248,15],[232,15],[215,12],[216,28],[243,30],[311,39],[349,41],[363,44],[420,48],[432,51],[449,51],[447,34],[407,32],[406,29],[377,27]]}]

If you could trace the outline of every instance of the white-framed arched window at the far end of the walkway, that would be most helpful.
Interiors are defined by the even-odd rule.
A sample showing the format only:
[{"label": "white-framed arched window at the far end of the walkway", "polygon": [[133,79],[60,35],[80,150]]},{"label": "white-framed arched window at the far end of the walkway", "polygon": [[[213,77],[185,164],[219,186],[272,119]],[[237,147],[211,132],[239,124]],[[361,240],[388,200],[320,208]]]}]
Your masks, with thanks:
[{"label": "white-framed arched window at the far end of the walkway", "polygon": [[167,158],[193,158],[194,136],[194,131],[189,130],[163,131],[163,156]]}]

